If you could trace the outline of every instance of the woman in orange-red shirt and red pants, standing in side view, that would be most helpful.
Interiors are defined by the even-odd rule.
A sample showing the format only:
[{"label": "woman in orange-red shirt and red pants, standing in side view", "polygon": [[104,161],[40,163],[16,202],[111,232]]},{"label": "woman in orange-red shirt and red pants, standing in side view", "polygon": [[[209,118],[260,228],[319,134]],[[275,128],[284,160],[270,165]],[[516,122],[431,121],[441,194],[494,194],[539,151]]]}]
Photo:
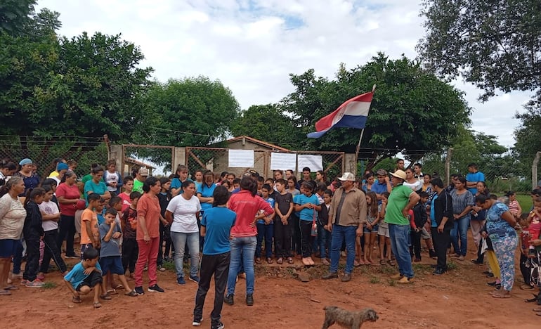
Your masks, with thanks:
[{"label": "woman in orange-red shirt and red pants, standing in side view", "polygon": [[159,248],[159,200],[158,193],[162,184],[156,177],[148,177],[143,183],[141,198],[137,202],[137,245],[139,255],[135,271],[135,291],[137,295],[145,295],[143,290],[143,269],[148,264],[148,291],[164,292],[157,285],[157,258]]}]

